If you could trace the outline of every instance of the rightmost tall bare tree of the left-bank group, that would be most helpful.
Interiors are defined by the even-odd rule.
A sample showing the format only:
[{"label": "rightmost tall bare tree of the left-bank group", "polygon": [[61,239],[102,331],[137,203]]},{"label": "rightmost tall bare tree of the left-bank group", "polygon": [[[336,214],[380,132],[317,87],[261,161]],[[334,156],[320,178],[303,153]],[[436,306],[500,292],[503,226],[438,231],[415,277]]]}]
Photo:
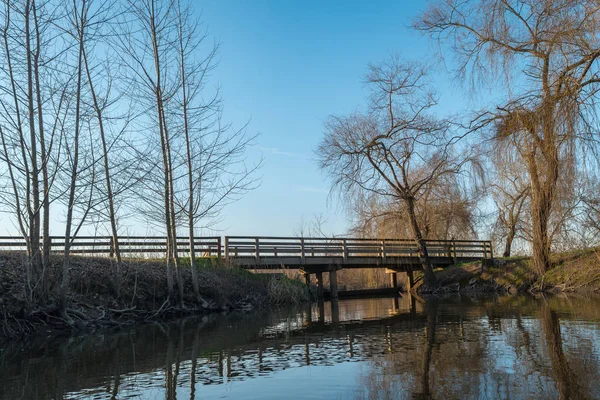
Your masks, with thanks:
[{"label": "rightmost tall bare tree of the left-bank group", "polygon": [[[173,220],[185,220],[187,224],[192,285],[200,298],[195,231],[210,227],[224,206],[256,186],[253,174],[260,163],[248,165],[244,158],[256,136],[248,134],[246,126],[234,129],[222,122],[220,90],[209,88],[210,73],[217,65],[218,44],[207,43],[208,34],[194,19],[190,3],[177,0],[177,7],[180,84],[168,112],[176,132],[174,142],[182,142],[181,151],[173,152],[180,160],[175,164],[185,166],[184,172],[174,168],[173,181],[185,184],[175,185],[172,190],[178,211]],[[182,175],[185,179],[180,179]]]}]

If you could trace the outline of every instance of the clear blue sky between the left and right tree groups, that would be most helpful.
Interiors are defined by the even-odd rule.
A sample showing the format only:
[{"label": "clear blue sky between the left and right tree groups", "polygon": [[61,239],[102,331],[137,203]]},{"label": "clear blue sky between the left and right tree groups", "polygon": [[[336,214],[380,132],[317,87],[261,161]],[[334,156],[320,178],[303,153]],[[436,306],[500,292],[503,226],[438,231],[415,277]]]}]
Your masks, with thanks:
[{"label": "clear blue sky between the left and right tree groups", "polygon": [[[323,214],[340,234],[347,218],[315,162],[329,115],[364,104],[369,63],[390,54],[432,59],[435,46],[410,28],[426,3],[404,1],[203,1],[198,12],[221,42],[213,78],[225,115],[251,120],[259,132],[249,156],[262,154],[262,185],[224,211],[227,234],[290,235],[302,218]],[[440,72],[442,108],[455,109],[460,89]]]}]

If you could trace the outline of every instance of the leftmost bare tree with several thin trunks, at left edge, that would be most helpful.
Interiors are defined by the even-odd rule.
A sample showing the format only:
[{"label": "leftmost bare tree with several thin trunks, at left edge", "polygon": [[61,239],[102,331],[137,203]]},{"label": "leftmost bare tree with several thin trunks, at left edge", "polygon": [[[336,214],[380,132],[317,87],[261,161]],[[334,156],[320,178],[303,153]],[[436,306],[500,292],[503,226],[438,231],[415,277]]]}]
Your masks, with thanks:
[{"label": "leftmost bare tree with several thin trunks, at left edge", "polygon": [[49,45],[61,40],[55,28],[60,15],[52,6],[47,1],[5,1],[1,10],[0,70],[6,86],[0,96],[0,159],[9,182],[2,200],[28,244],[32,291],[43,286],[50,254],[50,204],[57,197],[51,189],[61,164],[61,121],[69,103],[69,73],[57,68],[65,61],[65,50]]}]

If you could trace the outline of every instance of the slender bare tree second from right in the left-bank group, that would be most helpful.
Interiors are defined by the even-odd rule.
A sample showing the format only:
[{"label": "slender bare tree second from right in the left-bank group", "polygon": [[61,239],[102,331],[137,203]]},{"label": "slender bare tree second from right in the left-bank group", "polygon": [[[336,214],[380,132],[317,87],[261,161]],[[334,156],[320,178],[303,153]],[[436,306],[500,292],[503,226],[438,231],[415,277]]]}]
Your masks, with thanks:
[{"label": "slender bare tree second from right in the left-bank group", "polygon": [[[151,197],[147,204],[152,213],[160,210],[159,221],[164,223],[167,235],[167,288],[169,296],[173,295],[173,266],[178,270],[177,240],[174,215],[174,197],[172,193],[173,163],[171,154],[171,137],[167,123],[166,107],[179,87],[173,80],[173,68],[177,60],[176,33],[177,4],[174,0],[143,0],[127,2],[127,12],[122,27],[125,31],[115,35],[118,41],[122,61],[130,71],[135,82],[136,97],[146,112],[154,109],[149,128],[158,134],[158,152],[162,171],[160,189],[154,186],[151,179],[147,188],[162,200],[162,207]],[[148,170],[154,171],[156,163],[148,163]],[[157,190],[158,189],[158,190]],[[154,219],[154,218],[152,218]],[[178,279],[180,300],[183,300],[183,282]]]}]

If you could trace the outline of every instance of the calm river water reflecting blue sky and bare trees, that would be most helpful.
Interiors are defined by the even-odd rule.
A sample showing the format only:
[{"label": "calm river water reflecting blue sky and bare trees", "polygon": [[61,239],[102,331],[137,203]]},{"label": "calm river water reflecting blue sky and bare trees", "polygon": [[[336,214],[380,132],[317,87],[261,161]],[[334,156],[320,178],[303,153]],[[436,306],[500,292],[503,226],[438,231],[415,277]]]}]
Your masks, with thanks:
[{"label": "calm river water reflecting blue sky and bare trees", "polygon": [[600,399],[600,300],[343,300],[0,350],[0,399]]}]

